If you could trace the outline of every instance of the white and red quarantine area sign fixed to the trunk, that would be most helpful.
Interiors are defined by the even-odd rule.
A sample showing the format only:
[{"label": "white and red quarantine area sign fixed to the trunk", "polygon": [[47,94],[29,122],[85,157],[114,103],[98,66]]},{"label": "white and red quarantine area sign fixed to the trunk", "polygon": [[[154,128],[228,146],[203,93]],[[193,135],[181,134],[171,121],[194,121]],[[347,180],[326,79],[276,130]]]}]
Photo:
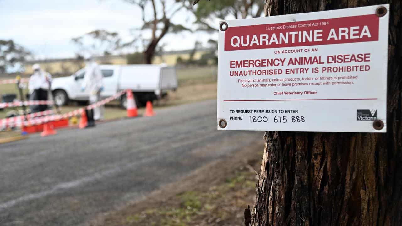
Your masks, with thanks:
[{"label": "white and red quarantine area sign fixed to the trunk", "polygon": [[218,129],[386,132],[389,5],[222,21]]}]

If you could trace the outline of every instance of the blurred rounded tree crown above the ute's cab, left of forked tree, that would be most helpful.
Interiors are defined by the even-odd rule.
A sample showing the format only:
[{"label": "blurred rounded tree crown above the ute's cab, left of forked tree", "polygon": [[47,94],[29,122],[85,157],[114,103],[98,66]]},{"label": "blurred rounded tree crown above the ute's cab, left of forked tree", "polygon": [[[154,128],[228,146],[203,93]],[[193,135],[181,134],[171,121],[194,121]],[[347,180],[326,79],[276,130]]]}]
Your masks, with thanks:
[{"label": "blurred rounded tree crown above the ute's cab, left of forked tree", "polygon": [[79,47],[79,53],[89,52],[93,55],[111,55],[121,46],[121,38],[116,32],[95,30],[85,33],[71,41]]}]

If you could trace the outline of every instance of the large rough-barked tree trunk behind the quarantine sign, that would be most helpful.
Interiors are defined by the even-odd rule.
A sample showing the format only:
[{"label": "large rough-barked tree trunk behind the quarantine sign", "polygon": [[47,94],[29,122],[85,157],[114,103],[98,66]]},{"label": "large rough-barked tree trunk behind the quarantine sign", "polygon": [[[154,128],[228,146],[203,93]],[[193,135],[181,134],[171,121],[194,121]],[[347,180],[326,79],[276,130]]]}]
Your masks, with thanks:
[{"label": "large rough-barked tree trunk behind the quarantine sign", "polygon": [[266,16],[391,4],[388,133],[266,131],[250,225],[402,225],[401,2],[267,0]]}]

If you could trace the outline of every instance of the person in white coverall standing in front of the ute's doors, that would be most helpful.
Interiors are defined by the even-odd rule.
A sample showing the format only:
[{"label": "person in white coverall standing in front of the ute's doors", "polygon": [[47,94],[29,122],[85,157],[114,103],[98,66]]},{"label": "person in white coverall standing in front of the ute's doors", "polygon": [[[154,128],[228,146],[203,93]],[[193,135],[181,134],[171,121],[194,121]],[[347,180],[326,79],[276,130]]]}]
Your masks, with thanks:
[{"label": "person in white coverall standing in front of the ute's doors", "polygon": [[[90,104],[100,101],[100,92],[103,89],[103,76],[98,64],[93,60],[86,63],[82,89],[89,92]],[[94,119],[103,119],[104,112],[105,107],[103,105],[94,108]]]}]

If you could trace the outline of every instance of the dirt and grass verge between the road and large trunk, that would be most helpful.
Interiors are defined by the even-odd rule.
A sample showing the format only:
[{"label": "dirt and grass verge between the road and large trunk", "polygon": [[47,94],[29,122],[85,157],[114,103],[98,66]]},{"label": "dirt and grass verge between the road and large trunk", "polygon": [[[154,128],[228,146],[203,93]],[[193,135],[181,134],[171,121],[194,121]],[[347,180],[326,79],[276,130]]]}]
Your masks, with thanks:
[{"label": "dirt and grass verge between the road and large trunk", "polygon": [[[243,226],[255,197],[261,140],[234,156],[211,162],[141,201],[107,212],[86,226]],[[251,207],[250,207],[251,208]]]}]

